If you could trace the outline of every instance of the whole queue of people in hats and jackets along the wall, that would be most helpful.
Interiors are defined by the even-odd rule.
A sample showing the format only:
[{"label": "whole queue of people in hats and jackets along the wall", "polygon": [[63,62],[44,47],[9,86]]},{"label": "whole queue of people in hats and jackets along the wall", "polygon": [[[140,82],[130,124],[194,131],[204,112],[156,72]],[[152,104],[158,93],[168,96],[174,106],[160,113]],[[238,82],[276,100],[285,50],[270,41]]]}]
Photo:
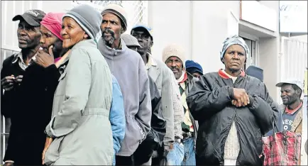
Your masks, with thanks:
[{"label": "whole queue of people in hats and jackets along the wall", "polygon": [[278,83],[278,106],[263,70],[242,70],[238,35],[223,43],[224,69],[204,74],[176,43],[153,57],[152,29],[125,33],[127,20],[117,4],[13,18],[21,52],[1,69],[4,165],[262,165],[273,121],[302,132],[302,84]]}]

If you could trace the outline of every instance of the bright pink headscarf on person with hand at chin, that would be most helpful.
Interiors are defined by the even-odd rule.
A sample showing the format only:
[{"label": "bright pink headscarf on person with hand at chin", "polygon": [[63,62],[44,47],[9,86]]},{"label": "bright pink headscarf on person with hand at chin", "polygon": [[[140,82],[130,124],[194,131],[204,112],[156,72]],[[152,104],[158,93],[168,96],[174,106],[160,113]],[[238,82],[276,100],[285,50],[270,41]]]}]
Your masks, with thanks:
[{"label": "bright pink headscarf on person with hand at chin", "polygon": [[45,15],[40,24],[45,26],[51,33],[57,36],[60,40],[63,40],[60,32],[62,29],[62,17],[65,13],[48,13]]}]

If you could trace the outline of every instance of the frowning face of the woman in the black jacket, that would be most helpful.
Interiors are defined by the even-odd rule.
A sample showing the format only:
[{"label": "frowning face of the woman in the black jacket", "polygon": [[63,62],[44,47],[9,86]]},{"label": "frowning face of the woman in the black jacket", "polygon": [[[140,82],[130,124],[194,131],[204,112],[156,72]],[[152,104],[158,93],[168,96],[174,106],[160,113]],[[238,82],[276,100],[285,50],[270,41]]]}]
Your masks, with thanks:
[{"label": "frowning face of the woman in the black jacket", "polygon": [[246,62],[246,52],[241,45],[231,45],[224,54],[224,65],[230,72],[238,72]]}]

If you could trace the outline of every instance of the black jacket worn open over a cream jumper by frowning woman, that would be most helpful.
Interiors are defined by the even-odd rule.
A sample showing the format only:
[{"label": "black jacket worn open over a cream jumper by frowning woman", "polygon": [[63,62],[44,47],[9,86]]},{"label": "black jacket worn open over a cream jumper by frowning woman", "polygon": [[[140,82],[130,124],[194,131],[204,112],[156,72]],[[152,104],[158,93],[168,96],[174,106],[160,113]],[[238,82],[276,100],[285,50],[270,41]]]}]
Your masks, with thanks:
[{"label": "black jacket worn open over a cream jumper by frowning woman", "polygon": [[[231,105],[233,87],[246,89],[249,106]],[[240,152],[236,165],[262,165],[262,135],[277,119],[277,104],[263,82],[244,73],[233,84],[223,72],[204,74],[187,96],[189,110],[199,122],[198,165],[224,165],[224,144],[233,121],[236,123]]]}]

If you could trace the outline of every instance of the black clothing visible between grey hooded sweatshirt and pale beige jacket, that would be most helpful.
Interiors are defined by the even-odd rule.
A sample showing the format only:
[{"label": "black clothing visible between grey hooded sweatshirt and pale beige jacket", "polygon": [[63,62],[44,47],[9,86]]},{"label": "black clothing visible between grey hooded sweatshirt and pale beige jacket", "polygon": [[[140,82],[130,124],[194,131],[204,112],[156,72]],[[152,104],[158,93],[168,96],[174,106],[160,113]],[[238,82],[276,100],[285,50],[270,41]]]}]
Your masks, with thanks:
[{"label": "black clothing visible between grey hooded sweatshirt and pale beige jacket", "polygon": [[136,152],[133,153],[135,165],[142,165],[148,162],[153,154],[153,150],[158,150],[163,144],[163,139],[166,134],[166,120],[163,118],[160,106],[161,96],[153,79],[150,77],[148,79],[152,104],[151,129],[145,140],[138,146]]}]

